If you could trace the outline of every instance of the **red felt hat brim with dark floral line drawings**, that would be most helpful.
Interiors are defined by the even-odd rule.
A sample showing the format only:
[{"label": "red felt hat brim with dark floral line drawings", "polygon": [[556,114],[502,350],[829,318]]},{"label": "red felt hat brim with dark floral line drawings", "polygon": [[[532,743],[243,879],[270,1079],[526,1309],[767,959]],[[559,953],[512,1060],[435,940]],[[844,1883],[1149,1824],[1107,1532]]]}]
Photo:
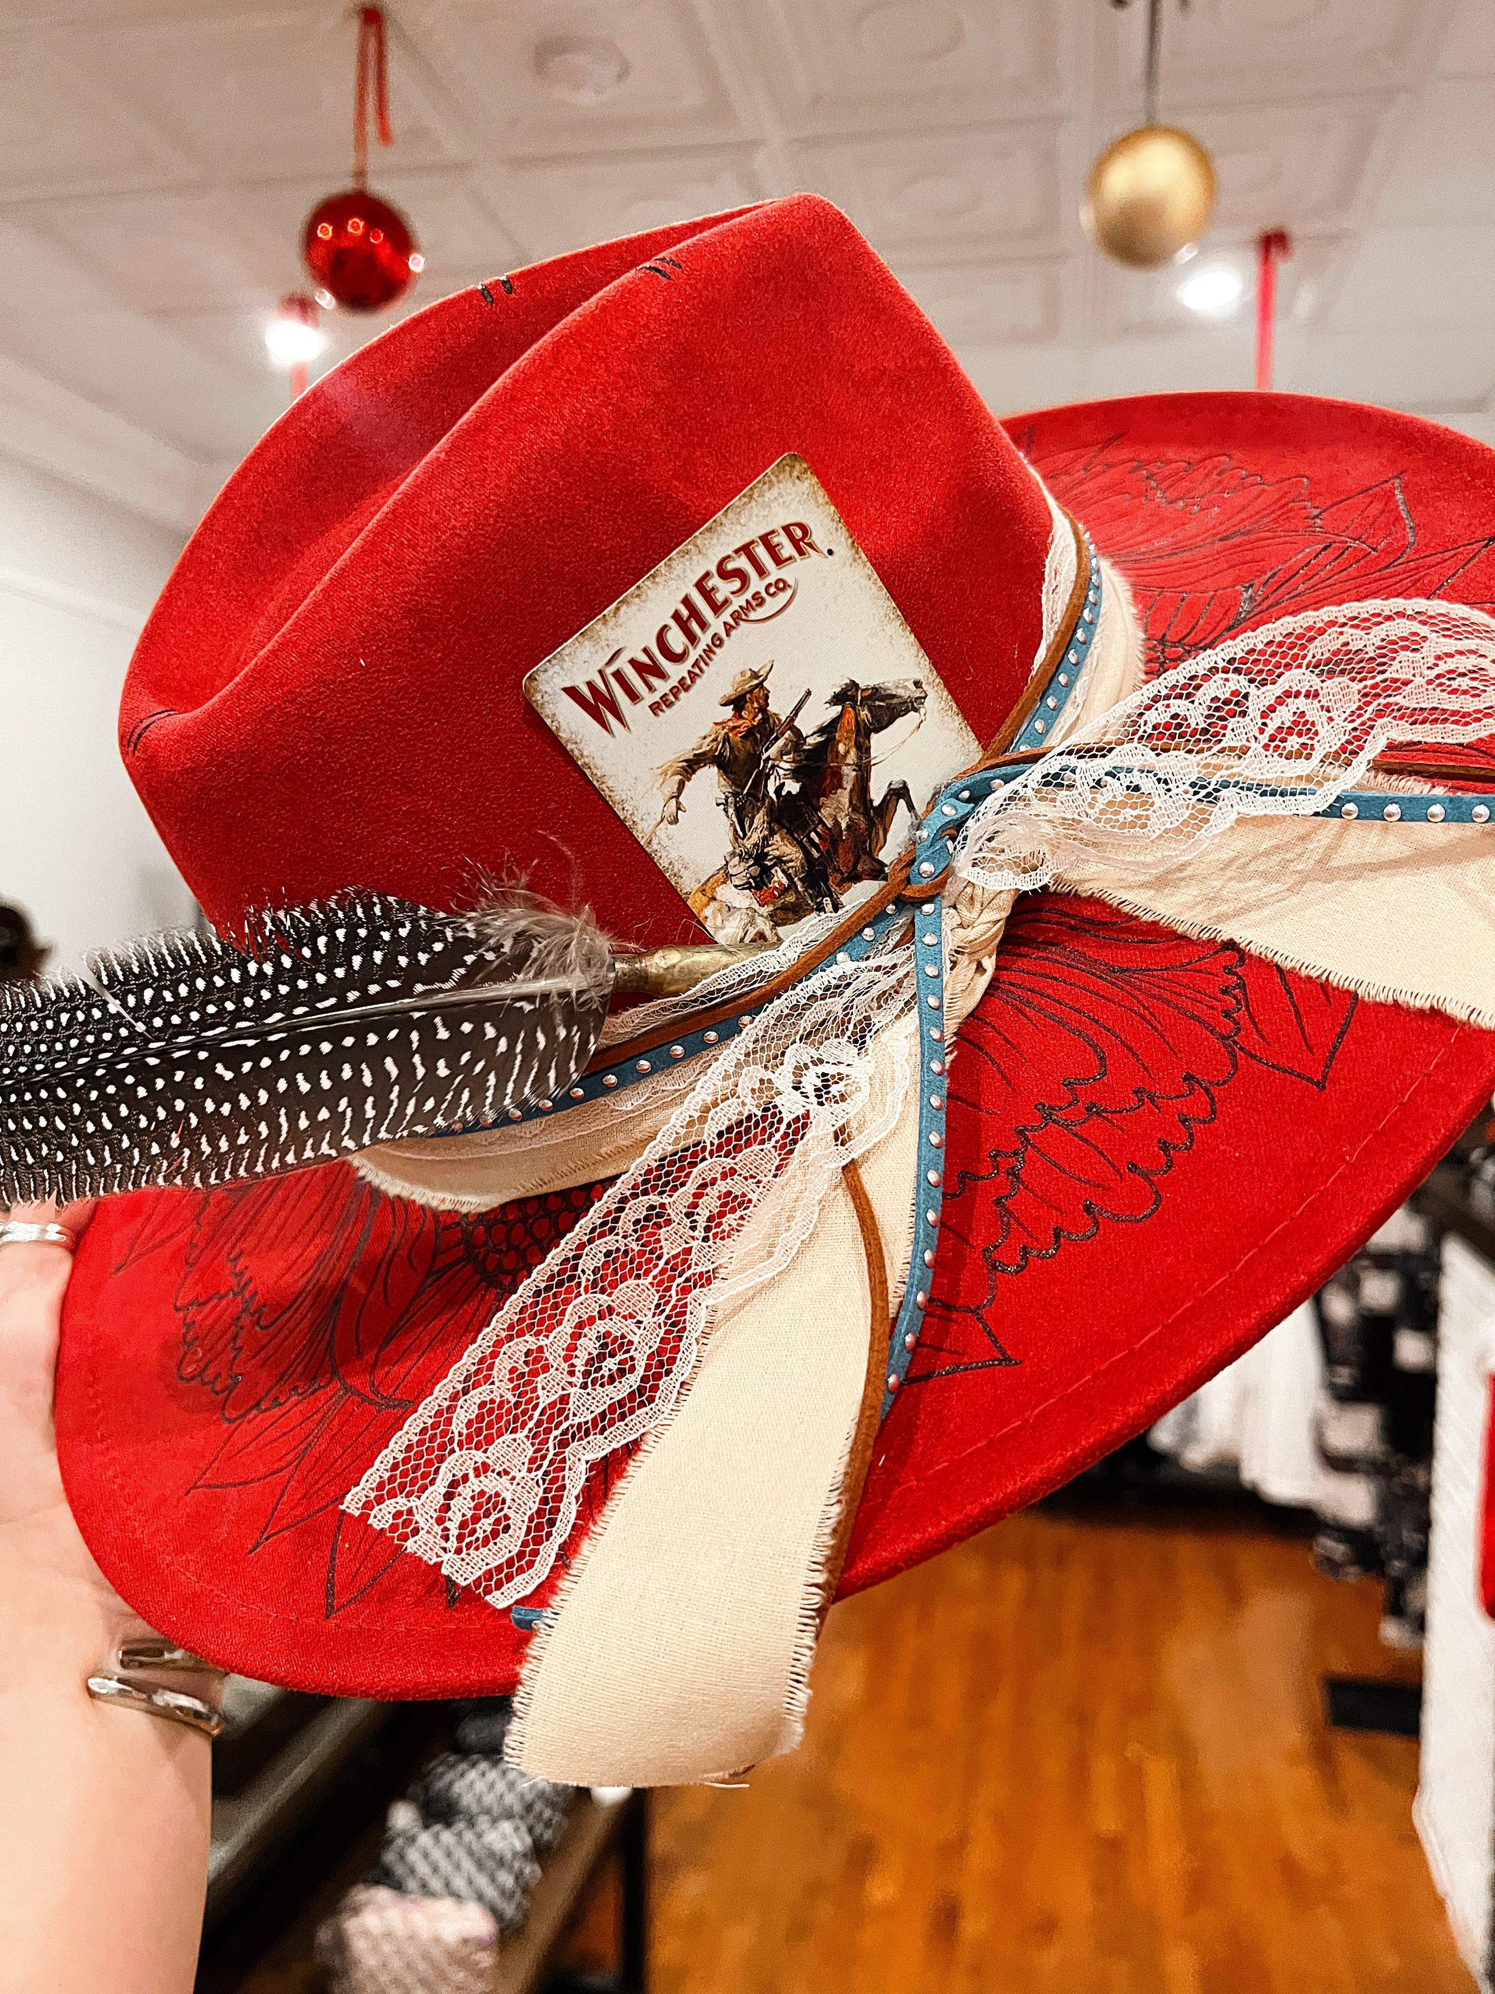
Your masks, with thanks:
[{"label": "red felt hat brim with dark floral line drawings", "polygon": [[[1009,429],[1126,574],[1152,664],[1322,602],[1495,596],[1495,457],[1431,425],[1204,395]],[[1096,901],[1019,903],[951,1073],[931,1308],[843,1589],[1054,1488],[1248,1348],[1493,1085],[1491,1033]],[[64,1480],[106,1575],[249,1675],[512,1687],[508,1615],[339,1503],[588,1200],[439,1216],[345,1164],[108,1200],[58,1366]]]}]

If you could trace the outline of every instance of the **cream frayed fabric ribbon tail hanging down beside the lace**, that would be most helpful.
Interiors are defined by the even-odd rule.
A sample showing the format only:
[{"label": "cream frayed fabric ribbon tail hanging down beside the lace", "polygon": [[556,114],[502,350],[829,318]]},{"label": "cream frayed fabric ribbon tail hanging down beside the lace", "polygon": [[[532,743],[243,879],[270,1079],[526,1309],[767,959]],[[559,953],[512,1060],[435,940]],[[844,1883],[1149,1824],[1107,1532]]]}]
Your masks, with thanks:
[{"label": "cream frayed fabric ribbon tail hanging down beside the lace", "polygon": [[[889,1258],[901,1246],[907,1258],[913,1023],[879,1037],[863,1111],[887,1129],[901,1103],[859,1163]],[[793,1260],[718,1304],[690,1390],[582,1547],[524,1669],[506,1743],[518,1765],[640,1787],[726,1777],[793,1751],[839,1575],[869,1300],[861,1226],[837,1174]],[[883,1326],[879,1390],[885,1348]]]}]

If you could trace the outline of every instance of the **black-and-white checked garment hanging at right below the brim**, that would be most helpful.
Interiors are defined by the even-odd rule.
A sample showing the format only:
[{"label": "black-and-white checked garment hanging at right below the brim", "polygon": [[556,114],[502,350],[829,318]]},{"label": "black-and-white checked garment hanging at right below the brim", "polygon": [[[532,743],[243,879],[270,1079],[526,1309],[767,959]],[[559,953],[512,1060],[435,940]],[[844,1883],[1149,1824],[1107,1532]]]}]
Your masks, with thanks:
[{"label": "black-and-white checked garment hanging at right below the brim", "polygon": [[1427,1609],[1439,1238],[1403,1204],[1316,1298],[1324,1462],[1314,1563],[1385,1583],[1381,1639],[1419,1647]]}]

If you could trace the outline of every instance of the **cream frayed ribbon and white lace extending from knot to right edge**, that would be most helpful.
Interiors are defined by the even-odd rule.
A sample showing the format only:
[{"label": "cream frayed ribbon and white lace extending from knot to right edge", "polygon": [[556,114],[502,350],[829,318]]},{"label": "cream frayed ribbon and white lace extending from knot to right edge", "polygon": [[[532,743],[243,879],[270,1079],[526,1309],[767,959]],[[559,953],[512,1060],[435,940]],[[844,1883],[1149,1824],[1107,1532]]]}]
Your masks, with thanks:
[{"label": "cream frayed ribbon and white lace extending from knot to right edge", "polygon": [[1495,622],[1461,604],[1268,624],[1080,726],[977,810],[955,869],[1094,893],[1361,997],[1495,1027],[1491,831],[1316,816],[1357,786],[1431,790],[1377,776],[1373,758],[1495,732],[1493,672]]}]

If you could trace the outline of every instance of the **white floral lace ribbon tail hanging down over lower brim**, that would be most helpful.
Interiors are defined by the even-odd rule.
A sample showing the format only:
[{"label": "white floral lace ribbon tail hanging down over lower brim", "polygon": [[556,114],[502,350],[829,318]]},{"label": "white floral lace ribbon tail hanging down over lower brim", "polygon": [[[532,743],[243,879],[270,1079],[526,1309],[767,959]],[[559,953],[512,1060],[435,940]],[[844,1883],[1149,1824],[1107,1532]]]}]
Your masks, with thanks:
[{"label": "white floral lace ribbon tail hanging down over lower brim", "polygon": [[592,1468],[670,1418],[716,1306],[789,1264],[833,1174],[897,1119],[901,1089],[867,1113],[871,1047],[911,1003],[897,951],[829,963],[753,1019],[345,1507],[496,1607],[532,1593]]}]

